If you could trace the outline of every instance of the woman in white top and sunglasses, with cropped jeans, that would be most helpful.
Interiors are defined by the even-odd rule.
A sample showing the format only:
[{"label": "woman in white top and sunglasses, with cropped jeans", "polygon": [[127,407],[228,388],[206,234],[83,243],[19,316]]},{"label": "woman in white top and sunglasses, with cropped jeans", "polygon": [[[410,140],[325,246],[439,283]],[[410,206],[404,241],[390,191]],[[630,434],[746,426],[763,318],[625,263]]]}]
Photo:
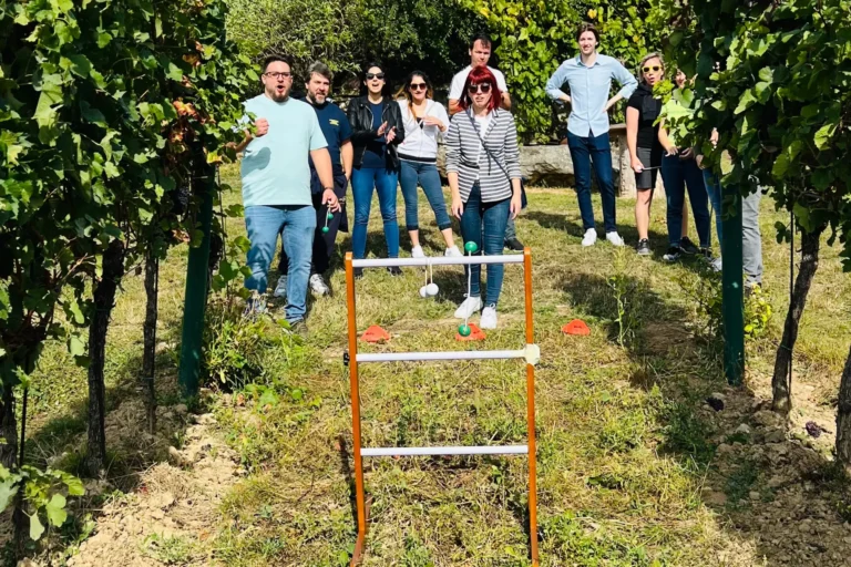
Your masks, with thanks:
[{"label": "woman in white top and sunglasses, with cropped jeans", "polygon": [[417,204],[417,185],[422,186],[426,198],[434,212],[438,228],[447,243],[445,256],[463,256],[452,236],[452,220],[438,173],[438,138],[449,127],[449,116],[442,104],[432,100],[433,90],[422,71],[414,71],[404,81],[397,101],[404,124],[404,142],[399,145],[399,184],[404,198],[404,223],[411,237],[411,256],[424,258],[420,246],[420,225]]}]

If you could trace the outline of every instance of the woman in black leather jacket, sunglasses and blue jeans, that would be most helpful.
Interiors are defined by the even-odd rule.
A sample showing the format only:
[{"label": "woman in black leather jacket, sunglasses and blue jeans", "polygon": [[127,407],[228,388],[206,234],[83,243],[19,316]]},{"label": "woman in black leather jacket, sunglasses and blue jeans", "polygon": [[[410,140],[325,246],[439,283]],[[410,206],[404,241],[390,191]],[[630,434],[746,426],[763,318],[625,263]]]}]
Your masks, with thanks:
[{"label": "woman in black leather jacket, sunglasses and blue jeans", "polygon": [[[397,146],[404,140],[404,124],[399,105],[388,95],[381,65],[369,63],[363,69],[363,94],[353,99],[348,107],[351,142],[355,146],[355,167],[351,173],[351,193],[355,197],[352,252],[358,259],[366,256],[367,224],[375,188],[385,224],[387,256],[398,258],[396,193],[400,164]],[[402,272],[398,267],[388,269],[393,276]],[[362,270],[356,268],[355,275],[361,277]]]}]

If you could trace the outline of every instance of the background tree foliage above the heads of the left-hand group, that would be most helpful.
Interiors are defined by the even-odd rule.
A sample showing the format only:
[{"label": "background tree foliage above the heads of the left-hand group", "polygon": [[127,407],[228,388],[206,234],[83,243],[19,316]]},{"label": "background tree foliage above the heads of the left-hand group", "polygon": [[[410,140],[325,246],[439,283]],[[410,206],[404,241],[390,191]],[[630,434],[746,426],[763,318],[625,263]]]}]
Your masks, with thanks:
[{"label": "background tree foliage above the heads of the left-hand group", "polygon": [[421,68],[444,82],[469,61],[466,39],[481,27],[455,0],[229,0],[229,8],[228,34],[245,53],[287,53],[303,75],[317,60],[346,75],[378,59],[391,81]]}]

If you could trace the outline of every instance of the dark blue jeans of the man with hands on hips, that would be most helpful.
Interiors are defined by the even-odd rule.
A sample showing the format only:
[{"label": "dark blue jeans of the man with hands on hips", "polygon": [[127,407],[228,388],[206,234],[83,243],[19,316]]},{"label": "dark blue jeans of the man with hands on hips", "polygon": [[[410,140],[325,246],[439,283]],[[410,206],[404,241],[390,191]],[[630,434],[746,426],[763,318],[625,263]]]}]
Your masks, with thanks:
[{"label": "dark blue jeans of the man with hands on hips", "polygon": [[580,200],[583,229],[594,228],[594,207],[591,204],[591,167],[593,165],[603,200],[603,221],[606,233],[617,231],[615,181],[612,176],[612,146],[608,142],[608,132],[596,137],[580,137],[567,132],[567,147],[573,158],[573,174],[576,178],[576,197]]}]

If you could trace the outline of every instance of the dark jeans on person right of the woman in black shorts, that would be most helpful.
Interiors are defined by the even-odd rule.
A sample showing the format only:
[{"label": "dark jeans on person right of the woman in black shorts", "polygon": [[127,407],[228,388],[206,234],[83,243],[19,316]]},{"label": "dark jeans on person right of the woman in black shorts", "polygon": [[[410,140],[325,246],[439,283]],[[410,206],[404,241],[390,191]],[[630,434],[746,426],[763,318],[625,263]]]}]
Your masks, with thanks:
[{"label": "dark jeans on person right of the woman in black shorts", "polygon": [[665,195],[668,203],[668,244],[679,246],[683,231],[683,200],[686,198],[688,187],[688,200],[691,202],[691,214],[695,216],[695,227],[701,248],[709,248],[712,244],[709,233],[709,208],[706,203],[706,185],[704,172],[694,159],[680,159],[679,156],[664,156],[662,158],[662,181],[665,184]]}]

